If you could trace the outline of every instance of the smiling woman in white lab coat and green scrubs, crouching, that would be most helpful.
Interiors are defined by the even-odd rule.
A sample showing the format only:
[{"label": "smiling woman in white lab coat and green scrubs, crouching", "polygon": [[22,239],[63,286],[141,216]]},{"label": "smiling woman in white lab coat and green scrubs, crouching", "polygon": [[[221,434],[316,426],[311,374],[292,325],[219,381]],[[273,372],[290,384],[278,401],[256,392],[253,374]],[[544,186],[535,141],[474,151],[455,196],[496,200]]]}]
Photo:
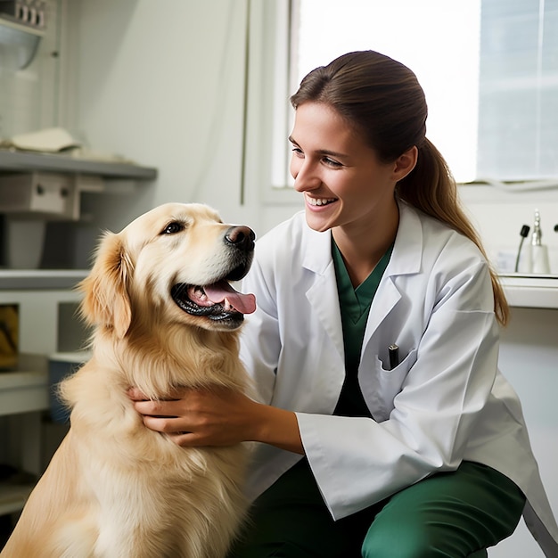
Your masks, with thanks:
[{"label": "smiling woman in white lab coat and green scrubs, crouching", "polygon": [[182,446],[263,442],[235,558],[486,556],[521,513],[558,556],[497,370],[505,296],[425,136],[414,74],[349,53],[291,102],[305,211],[257,242],[242,285],[258,303],[242,358],[266,405],[183,391],[136,402],[145,424]]}]

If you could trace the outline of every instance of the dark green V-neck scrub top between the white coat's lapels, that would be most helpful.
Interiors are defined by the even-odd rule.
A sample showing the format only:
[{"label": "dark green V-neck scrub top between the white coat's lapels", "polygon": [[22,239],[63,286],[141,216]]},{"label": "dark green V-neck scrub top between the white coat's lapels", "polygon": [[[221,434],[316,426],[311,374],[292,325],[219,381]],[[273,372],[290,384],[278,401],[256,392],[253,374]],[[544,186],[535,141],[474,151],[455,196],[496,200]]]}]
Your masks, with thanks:
[{"label": "dark green V-neck scrub top between the white coat's lapels", "polygon": [[392,251],[393,244],[382,256],[376,267],[373,268],[371,274],[355,289],[350,281],[341,251],[332,239],[332,258],[337,279],[337,292],[343,326],[343,345],[345,348],[345,382],[333,414],[371,416],[358,385],[358,365],[360,364],[360,353],[368,313],[383,272],[390,262]]}]

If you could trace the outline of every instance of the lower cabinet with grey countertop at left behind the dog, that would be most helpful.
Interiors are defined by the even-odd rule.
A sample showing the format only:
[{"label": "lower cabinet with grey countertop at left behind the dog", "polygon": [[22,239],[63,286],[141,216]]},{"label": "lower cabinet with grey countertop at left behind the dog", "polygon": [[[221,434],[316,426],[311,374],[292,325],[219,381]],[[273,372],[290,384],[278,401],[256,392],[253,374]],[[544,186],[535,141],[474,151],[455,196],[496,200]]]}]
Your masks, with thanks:
[{"label": "lower cabinet with grey countertop at left behind the dog", "polygon": [[[64,342],[64,349],[71,348],[69,343],[78,349],[84,339],[84,330],[76,335],[80,328],[74,308],[79,294],[73,287],[86,274],[86,270],[0,270],[0,304],[17,304],[20,317],[18,365],[0,372],[0,420],[8,426],[0,434],[10,441],[3,457],[37,477],[50,451],[43,422],[50,406],[48,356]],[[66,336],[70,341],[64,341]],[[32,488],[0,482],[0,515],[21,510]]]}]

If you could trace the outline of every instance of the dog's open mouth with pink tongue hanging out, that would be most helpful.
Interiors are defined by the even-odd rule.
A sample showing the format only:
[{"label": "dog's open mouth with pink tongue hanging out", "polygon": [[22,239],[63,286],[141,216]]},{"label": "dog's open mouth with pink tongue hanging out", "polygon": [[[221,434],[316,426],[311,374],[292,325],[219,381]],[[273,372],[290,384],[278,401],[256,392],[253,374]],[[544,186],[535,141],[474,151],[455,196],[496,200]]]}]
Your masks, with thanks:
[{"label": "dog's open mouth with pink tongue hanging out", "polygon": [[254,295],[235,291],[226,280],[205,286],[178,283],[170,293],[176,304],[188,314],[215,321],[242,321],[244,314],[256,310]]}]

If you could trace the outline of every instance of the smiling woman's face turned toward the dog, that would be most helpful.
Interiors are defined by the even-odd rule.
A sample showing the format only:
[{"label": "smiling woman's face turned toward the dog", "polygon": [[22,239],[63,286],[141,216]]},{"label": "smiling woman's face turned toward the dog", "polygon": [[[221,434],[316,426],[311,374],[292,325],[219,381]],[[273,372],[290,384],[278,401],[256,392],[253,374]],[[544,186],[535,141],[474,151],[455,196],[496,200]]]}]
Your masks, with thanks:
[{"label": "smiling woman's face turned toward the dog", "polygon": [[382,163],[357,131],[324,103],[302,103],[291,137],[294,188],[304,193],[308,226],[369,230],[398,214],[397,161]]}]

